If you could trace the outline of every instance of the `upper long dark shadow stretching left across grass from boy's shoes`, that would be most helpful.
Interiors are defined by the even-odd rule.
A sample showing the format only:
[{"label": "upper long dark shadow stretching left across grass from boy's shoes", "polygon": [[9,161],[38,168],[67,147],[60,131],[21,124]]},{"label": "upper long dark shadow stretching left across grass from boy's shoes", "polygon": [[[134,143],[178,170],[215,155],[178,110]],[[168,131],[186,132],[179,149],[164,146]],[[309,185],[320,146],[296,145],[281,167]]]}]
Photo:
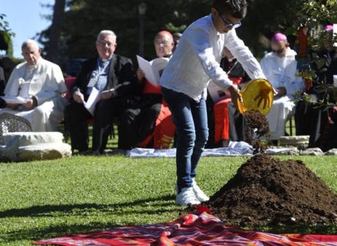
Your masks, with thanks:
[{"label": "upper long dark shadow stretching left across grass from boy's shoes", "polygon": [[[143,211],[137,210],[137,213],[164,213],[170,211],[170,209],[164,209],[165,206],[171,206],[174,204],[174,195],[163,195],[161,197],[149,198],[145,200],[135,200],[134,202],[126,203],[116,203],[116,204],[96,204],[96,203],[86,203],[86,204],[60,204],[60,205],[44,205],[44,206],[31,206],[29,208],[12,208],[9,210],[4,210],[0,212],[0,218],[5,217],[48,217],[53,216],[52,213],[71,213],[76,215],[75,211],[79,213],[86,213],[90,210],[100,210],[101,212],[109,212],[118,214],[118,210],[121,210],[125,207],[132,206],[143,206],[144,208],[148,207],[149,202],[151,202],[151,209],[144,209]],[[163,208],[160,210],[153,210],[153,207]],[[151,210],[153,210],[151,212]],[[127,214],[125,211],[121,211],[124,215]]]}]

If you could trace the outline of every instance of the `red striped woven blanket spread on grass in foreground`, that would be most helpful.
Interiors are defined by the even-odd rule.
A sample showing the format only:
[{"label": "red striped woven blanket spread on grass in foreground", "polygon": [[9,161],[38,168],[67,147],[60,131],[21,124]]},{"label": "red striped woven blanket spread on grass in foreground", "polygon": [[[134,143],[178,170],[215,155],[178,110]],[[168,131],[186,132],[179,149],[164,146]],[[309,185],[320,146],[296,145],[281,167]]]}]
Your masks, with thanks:
[{"label": "red striped woven blanket spread on grass in foreground", "polygon": [[60,236],[37,241],[36,245],[337,245],[336,235],[271,234],[227,226],[203,212],[187,214],[168,223],[126,226]]}]

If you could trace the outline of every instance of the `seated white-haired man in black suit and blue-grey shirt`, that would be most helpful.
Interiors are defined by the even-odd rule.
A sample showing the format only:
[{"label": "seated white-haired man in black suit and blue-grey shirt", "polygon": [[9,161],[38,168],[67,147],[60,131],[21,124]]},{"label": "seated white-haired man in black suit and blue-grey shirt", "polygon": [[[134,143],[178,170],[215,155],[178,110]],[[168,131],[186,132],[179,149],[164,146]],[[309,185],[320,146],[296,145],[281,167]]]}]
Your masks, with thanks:
[{"label": "seated white-haired man in black suit and blue-grey shirt", "polygon": [[[138,83],[132,60],[114,54],[117,44],[113,31],[101,31],[95,43],[99,57],[82,64],[72,98],[66,105],[65,120],[72,149],[88,152],[88,120],[94,118],[92,152],[102,154],[112,130],[112,122],[128,106],[138,90]],[[90,113],[86,102],[95,92],[98,92],[97,103],[95,111]]]}]

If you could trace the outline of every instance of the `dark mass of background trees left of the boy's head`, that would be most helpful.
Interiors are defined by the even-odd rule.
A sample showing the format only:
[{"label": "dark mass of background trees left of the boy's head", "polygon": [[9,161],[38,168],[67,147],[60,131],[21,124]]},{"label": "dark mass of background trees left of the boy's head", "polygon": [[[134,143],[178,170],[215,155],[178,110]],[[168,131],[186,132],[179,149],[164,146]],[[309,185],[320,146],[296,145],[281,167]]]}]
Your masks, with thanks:
[{"label": "dark mass of background trees left of the boy's head", "polygon": [[[66,1],[66,12],[60,33],[59,64],[66,64],[71,58],[89,58],[96,54],[95,39],[101,29],[112,29],[117,35],[116,53],[135,59],[139,47],[140,0],[103,1],[103,0],[70,0]],[[155,57],[153,49],[154,34],[160,29],[183,31],[190,18],[205,13],[207,1],[163,1],[147,0],[145,14],[145,57]],[[194,8],[193,6],[199,6]],[[182,11],[183,10],[183,11]],[[80,20],[80,21],[79,21]],[[45,44],[44,54],[48,56],[51,27],[42,31],[39,42]]]}]

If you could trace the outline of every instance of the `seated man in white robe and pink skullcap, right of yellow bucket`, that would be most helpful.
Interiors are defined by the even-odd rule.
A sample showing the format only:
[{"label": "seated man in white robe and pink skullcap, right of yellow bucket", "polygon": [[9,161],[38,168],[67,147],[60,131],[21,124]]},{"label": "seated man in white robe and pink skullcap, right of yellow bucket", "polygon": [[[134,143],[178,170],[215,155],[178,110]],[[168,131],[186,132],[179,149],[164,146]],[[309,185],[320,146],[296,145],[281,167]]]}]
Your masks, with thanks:
[{"label": "seated man in white robe and pink skullcap, right of yellow bucket", "polygon": [[292,101],[297,90],[303,89],[301,77],[296,77],[297,61],[294,50],[290,49],[283,33],[276,33],[271,38],[271,52],[260,61],[266,79],[273,85],[275,95],[271,111],[266,115],[269,121],[271,140],[285,135],[286,122],[295,114],[295,103]]}]

